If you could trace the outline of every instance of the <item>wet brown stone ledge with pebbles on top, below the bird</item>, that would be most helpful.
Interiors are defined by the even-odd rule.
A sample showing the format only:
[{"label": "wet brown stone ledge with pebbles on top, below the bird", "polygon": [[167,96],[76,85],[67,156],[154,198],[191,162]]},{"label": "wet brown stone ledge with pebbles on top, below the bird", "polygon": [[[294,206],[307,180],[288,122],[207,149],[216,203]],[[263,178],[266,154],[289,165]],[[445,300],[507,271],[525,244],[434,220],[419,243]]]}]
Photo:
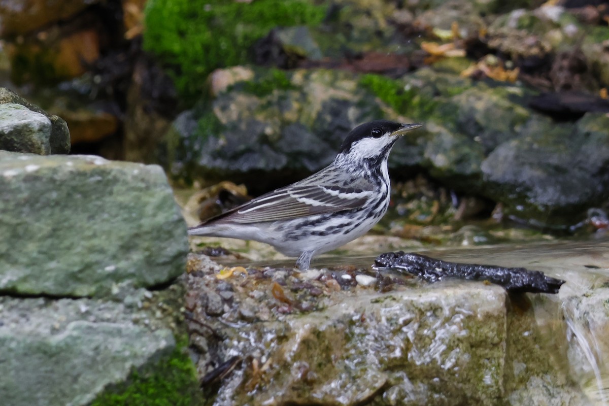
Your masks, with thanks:
[{"label": "wet brown stone ledge with pebbles on top, below the bird", "polygon": [[[532,399],[587,405],[586,385],[576,382],[594,373],[586,368],[590,359],[584,359],[581,340],[574,338],[581,331],[573,320],[598,312],[600,323],[585,328],[603,337],[596,334],[604,334],[601,315],[607,309],[595,306],[605,297],[602,284],[609,275],[581,273],[604,263],[606,255],[588,264],[586,253],[603,252],[606,242],[579,245],[571,256],[561,245],[554,254],[552,245],[546,256],[536,254],[543,247],[512,247],[520,253],[513,261],[538,264],[566,279],[558,295],[509,295],[481,282],[421,284],[349,266],[305,273],[224,268],[190,254],[185,307],[204,390],[216,396],[216,405],[303,399],[341,405],[521,405]],[[510,261],[501,248],[488,254],[441,252],[434,256]],[[576,299],[586,290],[598,299]],[[561,307],[569,301],[577,304]],[[543,317],[562,312],[566,320]],[[593,365],[605,371],[606,353],[595,354]],[[574,370],[580,371],[576,380]]]}]

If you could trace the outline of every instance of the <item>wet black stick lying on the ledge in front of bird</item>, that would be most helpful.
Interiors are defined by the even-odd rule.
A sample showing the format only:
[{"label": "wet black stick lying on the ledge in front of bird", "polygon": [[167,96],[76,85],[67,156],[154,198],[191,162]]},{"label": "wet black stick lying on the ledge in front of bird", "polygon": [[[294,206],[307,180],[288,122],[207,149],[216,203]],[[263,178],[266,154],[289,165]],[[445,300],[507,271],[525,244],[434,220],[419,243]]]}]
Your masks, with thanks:
[{"label": "wet black stick lying on the ledge in front of bird", "polygon": [[546,276],[541,271],[526,268],[504,268],[494,265],[457,264],[415,253],[384,253],[376,257],[376,268],[406,271],[427,282],[446,278],[488,281],[503,286],[509,292],[558,293],[565,283]]}]

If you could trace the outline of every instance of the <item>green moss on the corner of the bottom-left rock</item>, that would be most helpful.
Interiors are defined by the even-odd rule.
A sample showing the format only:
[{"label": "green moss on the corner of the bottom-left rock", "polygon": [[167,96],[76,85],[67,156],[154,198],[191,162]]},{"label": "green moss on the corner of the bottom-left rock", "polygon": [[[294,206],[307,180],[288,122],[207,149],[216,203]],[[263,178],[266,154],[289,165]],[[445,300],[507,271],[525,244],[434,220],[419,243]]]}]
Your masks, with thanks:
[{"label": "green moss on the corner of the bottom-left rock", "polygon": [[127,383],[98,396],[91,406],[191,406],[203,403],[197,372],[187,351],[188,337],[157,365],[134,370]]}]

